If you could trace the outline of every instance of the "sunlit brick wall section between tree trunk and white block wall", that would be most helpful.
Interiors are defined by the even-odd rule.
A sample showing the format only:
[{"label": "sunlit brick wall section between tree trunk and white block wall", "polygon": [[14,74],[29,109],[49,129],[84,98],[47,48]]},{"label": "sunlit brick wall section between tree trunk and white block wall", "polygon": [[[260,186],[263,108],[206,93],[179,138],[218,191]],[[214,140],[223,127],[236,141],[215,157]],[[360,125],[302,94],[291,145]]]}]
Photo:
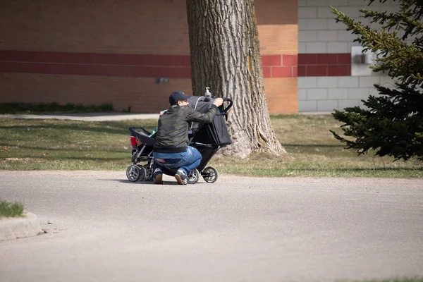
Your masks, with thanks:
[{"label": "sunlit brick wall section between tree trunk and white block wall", "polygon": [[256,0],[270,114],[298,113],[298,0]]}]

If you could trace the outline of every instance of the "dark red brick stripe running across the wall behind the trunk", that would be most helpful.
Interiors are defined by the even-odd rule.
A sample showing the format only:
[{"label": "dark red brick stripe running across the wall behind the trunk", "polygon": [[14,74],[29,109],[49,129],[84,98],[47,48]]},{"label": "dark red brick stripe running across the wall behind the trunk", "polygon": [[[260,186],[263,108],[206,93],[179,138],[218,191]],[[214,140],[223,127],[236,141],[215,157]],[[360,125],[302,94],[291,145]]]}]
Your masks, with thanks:
[{"label": "dark red brick stripe running across the wall behind the trunk", "polygon": [[[350,54],[263,55],[264,78],[350,75]],[[191,78],[190,56],[0,50],[1,73]]]}]

